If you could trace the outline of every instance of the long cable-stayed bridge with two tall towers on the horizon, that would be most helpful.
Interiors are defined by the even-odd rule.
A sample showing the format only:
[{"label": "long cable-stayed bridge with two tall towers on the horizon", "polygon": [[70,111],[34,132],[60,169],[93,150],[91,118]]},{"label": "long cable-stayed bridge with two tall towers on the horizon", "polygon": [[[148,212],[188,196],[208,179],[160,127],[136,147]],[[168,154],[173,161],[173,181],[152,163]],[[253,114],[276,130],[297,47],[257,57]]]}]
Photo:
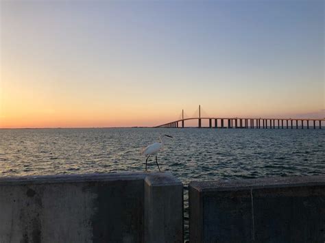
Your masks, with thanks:
[{"label": "long cable-stayed bridge with two tall towers on the horizon", "polygon": [[[182,118],[173,120],[163,125],[156,127],[174,127],[184,128],[186,120],[197,120],[197,127],[202,128],[202,120],[208,120],[208,128],[237,128],[237,129],[291,129],[300,128],[322,129],[322,122],[325,118],[247,118],[247,117],[202,117],[201,105],[199,105],[198,116],[191,118],[184,118],[184,110],[182,110]],[[298,123],[300,123],[298,125]]]}]

